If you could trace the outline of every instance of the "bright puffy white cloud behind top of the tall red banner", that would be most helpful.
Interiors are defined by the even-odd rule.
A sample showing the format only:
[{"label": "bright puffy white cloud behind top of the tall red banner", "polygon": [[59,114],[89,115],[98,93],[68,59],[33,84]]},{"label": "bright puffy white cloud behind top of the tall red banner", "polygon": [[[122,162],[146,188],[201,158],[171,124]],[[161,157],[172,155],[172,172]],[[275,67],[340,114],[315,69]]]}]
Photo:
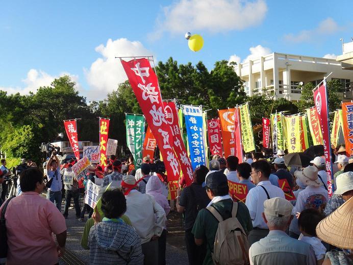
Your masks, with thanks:
[{"label": "bright puffy white cloud behind top of the tall red banner", "polygon": [[[90,100],[104,99],[107,93],[115,90],[119,83],[128,79],[117,56],[151,56],[141,42],[125,38],[108,39],[107,44],[100,44],[95,51],[102,55],[96,59],[90,69],[84,69],[90,91]],[[131,58],[132,59],[132,58]]]}]

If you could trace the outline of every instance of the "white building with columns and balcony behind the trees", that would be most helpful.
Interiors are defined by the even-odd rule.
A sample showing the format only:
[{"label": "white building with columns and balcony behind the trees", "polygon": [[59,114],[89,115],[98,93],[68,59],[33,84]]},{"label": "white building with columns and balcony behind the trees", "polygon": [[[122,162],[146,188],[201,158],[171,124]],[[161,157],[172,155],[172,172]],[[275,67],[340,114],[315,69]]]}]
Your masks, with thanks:
[{"label": "white building with columns and balcony behind the trees", "polygon": [[324,76],[332,75],[327,81],[339,79],[343,92],[349,90],[353,81],[353,71],[342,69],[341,62],[335,59],[316,58],[302,55],[272,53],[256,60],[239,63],[235,71],[245,81],[245,92],[272,94],[275,99],[286,98],[298,101],[301,95],[299,84],[313,82],[315,85]]}]

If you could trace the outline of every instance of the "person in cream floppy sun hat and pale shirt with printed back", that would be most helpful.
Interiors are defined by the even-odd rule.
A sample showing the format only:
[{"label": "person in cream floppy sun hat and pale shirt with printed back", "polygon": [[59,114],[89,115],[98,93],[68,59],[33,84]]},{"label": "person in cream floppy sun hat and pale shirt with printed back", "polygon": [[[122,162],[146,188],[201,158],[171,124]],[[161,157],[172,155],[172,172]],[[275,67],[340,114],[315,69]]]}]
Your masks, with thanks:
[{"label": "person in cream floppy sun hat and pale shirt with printed back", "polygon": [[[298,194],[292,214],[296,215],[301,211],[309,208],[318,209],[323,211],[329,196],[327,190],[323,189],[322,182],[318,179],[317,168],[309,165],[303,171],[297,171],[295,176],[307,187]],[[298,239],[300,230],[298,227],[298,219],[294,218],[289,227],[289,235]]]}]

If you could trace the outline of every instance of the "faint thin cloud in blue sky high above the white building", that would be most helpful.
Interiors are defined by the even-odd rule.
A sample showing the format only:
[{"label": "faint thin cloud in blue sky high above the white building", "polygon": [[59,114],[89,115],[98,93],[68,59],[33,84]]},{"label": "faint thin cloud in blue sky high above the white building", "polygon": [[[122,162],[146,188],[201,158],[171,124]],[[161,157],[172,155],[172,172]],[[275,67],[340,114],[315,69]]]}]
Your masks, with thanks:
[{"label": "faint thin cloud in blue sky high above the white building", "polygon": [[325,35],[334,34],[340,31],[341,28],[338,26],[335,20],[331,17],[322,20],[319,25],[312,30],[302,30],[297,34],[289,33],[284,35],[284,40],[288,42],[310,42],[318,38],[322,38]]}]

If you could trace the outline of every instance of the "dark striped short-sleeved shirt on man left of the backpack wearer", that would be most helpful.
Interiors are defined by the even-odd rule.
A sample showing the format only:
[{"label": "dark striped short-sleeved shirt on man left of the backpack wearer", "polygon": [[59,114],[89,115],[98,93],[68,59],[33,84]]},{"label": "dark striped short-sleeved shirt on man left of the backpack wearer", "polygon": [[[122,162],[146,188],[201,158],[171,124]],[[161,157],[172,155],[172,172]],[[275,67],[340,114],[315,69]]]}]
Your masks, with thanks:
[{"label": "dark striped short-sleeved shirt on man left of the backpack wearer", "polygon": [[[191,190],[192,188],[192,190]],[[206,188],[197,183],[192,183],[190,186],[184,188],[179,198],[179,205],[185,207],[184,211],[184,228],[185,230],[192,229],[195,218],[193,210],[196,201],[199,205],[199,210],[206,208],[210,203],[210,198],[206,193]]]}]

